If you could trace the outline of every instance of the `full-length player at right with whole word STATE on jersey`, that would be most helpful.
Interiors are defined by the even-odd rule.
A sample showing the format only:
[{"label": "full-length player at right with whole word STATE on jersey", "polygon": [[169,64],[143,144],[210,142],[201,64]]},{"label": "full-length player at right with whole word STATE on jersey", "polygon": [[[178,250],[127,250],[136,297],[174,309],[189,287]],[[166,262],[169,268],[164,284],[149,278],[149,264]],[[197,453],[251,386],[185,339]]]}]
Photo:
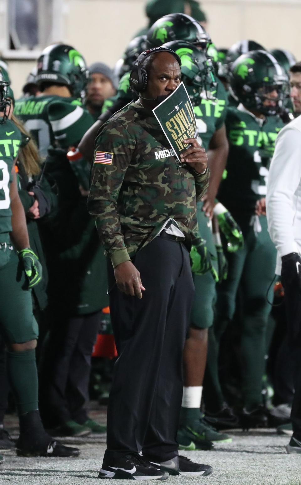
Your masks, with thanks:
[{"label": "full-length player at right with whole word STATE on jersey", "polygon": [[[241,356],[244,428],[264,425],[262,406],[265,333],[270,306],[267,292],[275,270],[276,252],[268,235],[267,218],[255,214],[257,201],[264,207],[268,165],[277,133],[284,126],[277,113],[287,92],[287,76],[276,59],[264,50],[243,54],[231,66],[230,83],[239,101],[228,109],[226,129],[229,140],[227,178],[218,191],[218,200],[233,214],[242,229],[245,246],[227,253],[228,278],[217,289],[215,333],[219,342],[232,320],[238,287],[242,294]],[[271,299],[270,298],[269,300]],[[215,379],[215,393],[205,400],[206,409],[218,417],[223,395]]]}]

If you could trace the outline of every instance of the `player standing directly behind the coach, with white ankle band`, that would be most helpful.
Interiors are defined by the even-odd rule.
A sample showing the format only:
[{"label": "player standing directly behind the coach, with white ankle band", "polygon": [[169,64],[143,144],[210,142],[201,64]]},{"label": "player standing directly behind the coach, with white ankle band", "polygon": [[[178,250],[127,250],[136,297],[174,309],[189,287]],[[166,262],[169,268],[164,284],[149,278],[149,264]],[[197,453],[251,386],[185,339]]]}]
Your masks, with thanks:
[{"label": "player standing directly behind the coach, with white ankle band", "polygon": [[[208,192],[197,205],[199,234],[197,240],[193,241],[190,255],[196,291],[189,337],[184,348],[184,393],[177,437],[181,449],[208,449],[208,442],[231,441],[228,435],[217,433],[209,426],[200,411],[208,328],[213,324],[214,316],[217,273],[223,277],[215,261],[221,248],[216,247],[219,244],[212,235],[210,219],[228,153],[224,126],[227,96],[221,82],[215,78],[213,65],[205,54],[206,48],[200,50],[194,43],[181,40],[168,42],[164,47],[174,50],[181,57],[182,80],[194,105],[199,143],[206,149],[211,167]],[[198,238],[203,239],[200,242]]]}]

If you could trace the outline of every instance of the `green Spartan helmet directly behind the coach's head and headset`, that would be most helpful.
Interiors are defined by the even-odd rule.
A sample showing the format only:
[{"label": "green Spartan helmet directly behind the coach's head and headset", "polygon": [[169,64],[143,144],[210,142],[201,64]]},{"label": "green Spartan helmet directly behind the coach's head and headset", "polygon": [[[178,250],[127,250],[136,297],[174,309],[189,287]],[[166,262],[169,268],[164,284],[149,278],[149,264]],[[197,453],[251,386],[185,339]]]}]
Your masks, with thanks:
[{"label": "green Spartan helmet directly behind the coach's head and headset", "polygon": [[210,93],[217,86],[211,60],[202,50],[182,40],[167,42],[162,47],[173,50],[180,57],[182,81],[193,88],[190,99],[194,106],[198,106],[203,92]]}]

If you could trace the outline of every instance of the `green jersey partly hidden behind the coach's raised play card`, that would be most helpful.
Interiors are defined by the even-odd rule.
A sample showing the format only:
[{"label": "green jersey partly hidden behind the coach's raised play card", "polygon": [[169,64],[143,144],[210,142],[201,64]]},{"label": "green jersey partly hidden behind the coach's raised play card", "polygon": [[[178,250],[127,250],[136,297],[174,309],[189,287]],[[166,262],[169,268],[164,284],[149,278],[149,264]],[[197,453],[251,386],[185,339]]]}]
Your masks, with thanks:
[{"label": "green jersey partly hidden behind the coach's raised play card", "polygon": [[[186,86],[186,89],[189,94],[191,88]],[[214,133],[223,126],[228,106],[227,92],[221,81],[218,81],[217,90],[212,91],[211,94],[212,98],[207,99],[204,95],[199,106],[193,109],[199,132],[198,142],[205,150],[208,150]]]}]

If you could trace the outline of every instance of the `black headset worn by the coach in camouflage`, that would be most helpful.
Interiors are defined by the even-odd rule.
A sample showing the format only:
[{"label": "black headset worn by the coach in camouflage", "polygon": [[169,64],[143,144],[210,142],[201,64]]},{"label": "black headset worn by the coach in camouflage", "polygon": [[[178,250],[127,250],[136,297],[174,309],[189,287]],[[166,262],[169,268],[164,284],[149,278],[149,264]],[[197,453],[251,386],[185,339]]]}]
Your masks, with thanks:
[{"label": "black headset worn by the coach in camouflage", "polygon": [[181,66],[180,57],[171,49],[167,49],[165,47],[154,47],[152,49],[145,50],[142,52],[142,54],[139,54],[132,67],[130,74],[130,89],[132,93],[139,94],[146,90],[148,85],[148,73],[145,69],[143,69],[142,65],[148,56],[155,54],[156,52],[169,52]]}]

